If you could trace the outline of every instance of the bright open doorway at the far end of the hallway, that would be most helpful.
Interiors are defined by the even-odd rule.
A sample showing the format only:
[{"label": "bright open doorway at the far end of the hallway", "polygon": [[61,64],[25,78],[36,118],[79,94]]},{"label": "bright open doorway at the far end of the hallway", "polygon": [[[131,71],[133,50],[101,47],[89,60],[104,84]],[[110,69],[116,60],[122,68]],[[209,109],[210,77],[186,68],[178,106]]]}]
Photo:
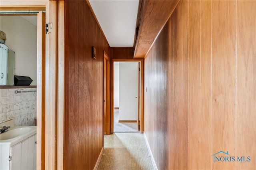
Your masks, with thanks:
[{"label": "bright open doorway at the far end of the hallway", "polygon": [[140,130],[140,61],[114,62],[114,132]]}]

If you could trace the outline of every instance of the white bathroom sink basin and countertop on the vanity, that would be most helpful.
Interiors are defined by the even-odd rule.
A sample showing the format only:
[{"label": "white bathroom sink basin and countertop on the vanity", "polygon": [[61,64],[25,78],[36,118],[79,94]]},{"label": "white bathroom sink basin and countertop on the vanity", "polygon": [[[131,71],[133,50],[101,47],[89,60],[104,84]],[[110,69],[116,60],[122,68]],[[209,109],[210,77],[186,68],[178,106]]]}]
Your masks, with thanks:
[{"label": "white bathroom sink basin and countertop on the vanity", "polygon": [[0,134],[0,142],[11,142],[12,139],[22,137],[34,131],[36,131],[36,126],[14,126],[7,132]]}]

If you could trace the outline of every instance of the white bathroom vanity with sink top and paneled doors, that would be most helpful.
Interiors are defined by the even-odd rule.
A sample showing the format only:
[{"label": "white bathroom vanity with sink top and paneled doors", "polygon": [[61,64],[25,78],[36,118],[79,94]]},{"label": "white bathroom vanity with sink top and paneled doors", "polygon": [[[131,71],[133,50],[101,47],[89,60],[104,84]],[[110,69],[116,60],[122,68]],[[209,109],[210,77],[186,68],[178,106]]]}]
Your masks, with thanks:
[{"label": "white bathroom vanity with sink top and paneled doors", "polygon": [[[12,138],[15,132],[28,129],[31,130]],[[4,140],[6,135],[0,134],[0,170],[36,170],[36,126],[17,126],[3,134],[10,139]]]}]

